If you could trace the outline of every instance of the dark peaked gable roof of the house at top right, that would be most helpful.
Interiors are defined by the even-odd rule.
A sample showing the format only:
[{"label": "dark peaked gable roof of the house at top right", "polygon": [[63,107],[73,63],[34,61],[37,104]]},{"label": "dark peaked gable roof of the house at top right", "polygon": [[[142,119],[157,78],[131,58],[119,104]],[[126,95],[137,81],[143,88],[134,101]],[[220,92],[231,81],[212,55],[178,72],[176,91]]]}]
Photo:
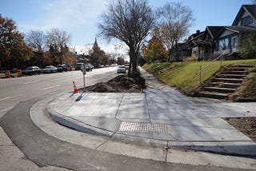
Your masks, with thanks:
[{"label": "dark peaked gable roof of the house at top right", "polygon": [[256,20],[256,5],[242,5],[240,10],[238,11],[237,16],[234,18],[234,22],[232,26],[237,26],[240,18],[242,18],[242,15],[248,12],[250,14],[251,18],[254,18]]}]

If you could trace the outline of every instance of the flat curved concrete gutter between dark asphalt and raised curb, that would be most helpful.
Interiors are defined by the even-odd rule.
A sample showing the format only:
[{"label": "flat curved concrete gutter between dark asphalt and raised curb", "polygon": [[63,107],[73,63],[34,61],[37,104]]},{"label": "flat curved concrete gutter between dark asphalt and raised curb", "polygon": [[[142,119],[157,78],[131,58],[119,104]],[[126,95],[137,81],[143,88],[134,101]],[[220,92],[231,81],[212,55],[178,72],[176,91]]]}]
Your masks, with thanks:
[{"label": "flat curved concrete gutter between dark asphalt and raised curb", "polygon": [[[56,100],[56,99],[55,99]],[[34,124],[42,131],[56,137],[62,141],[67,141],[72,144],[81,145],[82,147],[98,150],[105,153],[121,154],[128,157],[138,157],[153,161],[171,162],[186,165],[207,165],[216,167],[228,167],[236,169],[255,169],[255,160],[248,157],[233,157],[226,155],[218,155],[216,153],[205,153],[190,149],[167,147],[166,143],[159,141],[150,141],[146,138],[128,137],[120,135],[119,140],[115,141],[112,138],[94,136],[89,133],[78,132],[74,129],[69,129],[66,126],[59,125],[50,117],[50,114],[56,114],[51,108],[54,104],[54,97],[47,97],[42,101],[35,103],[30,109],[30,117]],[[48,110],[50,113],[48,113]],[[54,118],[64,121],[62,114],[58,113]],[[65,118],[66,119],[66,118]],[[66,122],[69,123],[69,122]],[[89,125],[82,125],[89,126]],[[76,126],[74,126],[76,127]],[[94,129],[94,127],[90,127]],[[98,129],[99,130],[99,129]],[[129,143],[127,141],[132,141]],[[140,142],[136,145],[135,142]],[[143,142],[143,143],[142,143]],[[153,146],[154,143],[161,147]],[[170,145],[170,143],[169,143]]]}]

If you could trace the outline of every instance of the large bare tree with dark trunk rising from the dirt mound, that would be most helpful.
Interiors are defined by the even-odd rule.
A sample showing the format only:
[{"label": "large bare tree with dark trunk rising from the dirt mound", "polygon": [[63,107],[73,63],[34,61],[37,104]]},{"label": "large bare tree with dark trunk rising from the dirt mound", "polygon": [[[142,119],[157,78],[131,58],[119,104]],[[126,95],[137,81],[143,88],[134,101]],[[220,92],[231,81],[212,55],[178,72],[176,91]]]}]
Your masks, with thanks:
[{"label": "large bare tree with dark trunk rising from the dirt mound", "polygon": [[102,22],[98,24],[99,35],[110,41],[116,38],[129,47],[130,67],[136,72],[139,51],[142,41],[154,27],[154,12],[147,0],[116,0],[110,2],[101,15]]}]

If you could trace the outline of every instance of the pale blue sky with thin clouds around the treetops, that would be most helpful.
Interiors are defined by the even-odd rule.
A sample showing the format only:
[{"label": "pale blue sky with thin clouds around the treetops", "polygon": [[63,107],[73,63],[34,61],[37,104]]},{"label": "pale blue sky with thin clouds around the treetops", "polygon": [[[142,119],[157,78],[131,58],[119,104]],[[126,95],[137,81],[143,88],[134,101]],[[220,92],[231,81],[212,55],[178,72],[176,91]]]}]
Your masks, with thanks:
[{"label": "pale blue sky with thin clouds around the treetops", "polygon": [[[71,35],[69,46],[81,54],[90,47],[98,34],[99,16],[110,0],[0,0],[2,17],[12,18],[18,31],[26,34],[29,30],[48,32],[53,28]],[[190,34],[205,30],[206,26],[230,26],[242,5],[251,0],[148,0],[150,6],[158,8],[166,2],[182,2],[194,14]],[[187,35],[189,36],[189,35]],[[116,44],[97,38],[98,46],[108,53]],[[85,47],[86,46],[86,47]],[[122,46],[119,49],[122,49]],[[86,51],[86,50],[85,50]],[[122,51],[122,50],[121,50]],[[81,53],[80,53],[81,52]]]}]

